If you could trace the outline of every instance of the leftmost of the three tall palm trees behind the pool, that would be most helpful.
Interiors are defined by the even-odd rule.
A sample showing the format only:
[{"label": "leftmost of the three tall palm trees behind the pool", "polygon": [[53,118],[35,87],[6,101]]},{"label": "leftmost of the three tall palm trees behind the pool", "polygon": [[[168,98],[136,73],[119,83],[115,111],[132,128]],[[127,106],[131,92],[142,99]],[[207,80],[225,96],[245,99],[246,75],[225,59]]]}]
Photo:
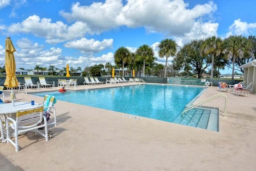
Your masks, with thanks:
[{"label": "leftmost of the three tall palm trees behind the pool", "polygon": [[124,77],[124,66],[128,65],[130,57],[130,51],[127,48],[120,47],[114,54],[116,65],[122,64],[122,72]]}]

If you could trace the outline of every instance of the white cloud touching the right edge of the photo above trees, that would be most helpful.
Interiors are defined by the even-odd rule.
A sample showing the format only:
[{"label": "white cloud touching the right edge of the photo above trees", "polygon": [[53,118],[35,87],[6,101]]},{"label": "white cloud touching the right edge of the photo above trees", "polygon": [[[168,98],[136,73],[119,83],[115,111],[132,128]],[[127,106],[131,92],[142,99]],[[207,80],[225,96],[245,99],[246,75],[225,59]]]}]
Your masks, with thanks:
[{"label": "white cloud touching the right edge of the photo above trees", "polygon": [[234,23],[229,27],[229,32],[226,37],[230,35],[244,35],[250,36],[256,31],[256,23],[242,22],[240,19],[235,20]]}]

